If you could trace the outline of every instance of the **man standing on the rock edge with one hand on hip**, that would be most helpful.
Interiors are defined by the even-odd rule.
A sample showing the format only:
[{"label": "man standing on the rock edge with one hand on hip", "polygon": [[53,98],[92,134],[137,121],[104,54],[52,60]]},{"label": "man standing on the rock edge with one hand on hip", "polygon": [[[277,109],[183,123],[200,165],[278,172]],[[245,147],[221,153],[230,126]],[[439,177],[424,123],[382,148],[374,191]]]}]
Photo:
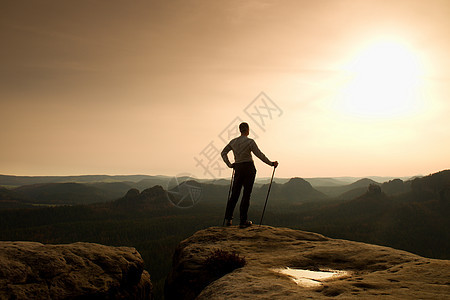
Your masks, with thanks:
[{"label": "man standing on the rock edge with one hand on hip", "polygon": [[[270,161],[258,148],[255,141],[248,137],[250,128],[247,123],[241,123],[239,125],[239,131],[241,136],[232,139],[228,145],[222,150],[223,161],[228,167],[234,169],[233,188],[231,190],[231,197],[228,199],[227,209],[225,211],[226,226],[231,226],[231,220],[233,219],[233,212],[236,203],[241,194],[241,189],[244,187],[244,193],[241,199],[240,206],[240,227],[245,228],[252,225],[252,222],[247,218],[248,207],[250,206],[250,195],[253,189],[253,183],[255,182],[256,168],[253,163],[252,152],[263,162],[269,166],[277,167],[277,161]],[[230,163],[228,159],[228,152],[233,150],[234,163]]]}]

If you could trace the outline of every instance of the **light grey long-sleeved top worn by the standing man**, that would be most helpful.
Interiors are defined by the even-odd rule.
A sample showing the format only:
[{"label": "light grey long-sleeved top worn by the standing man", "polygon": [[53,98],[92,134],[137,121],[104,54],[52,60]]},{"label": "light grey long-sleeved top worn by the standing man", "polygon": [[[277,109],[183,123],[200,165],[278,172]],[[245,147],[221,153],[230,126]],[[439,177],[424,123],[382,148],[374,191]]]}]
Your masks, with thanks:
[{"label": "light grey long-sleeved top worn by the standing man", "polygon": [[264,155],[264,153],[259,150],[258,146],[256,145],[256,142],[245,136],[241,135],[237,138],[232,139],[228,145],[225,146],[222,150],[222,158],[223,161],[227,164],[228,167],[232,167],[230,160],[228,159],[228,152],[233,150],[234,154],[234,162],[235,163],[241,163],[241,162],[247,162],[247,161],[253,161],[252,154],[255,154],[259,159],[261,159],[263,162],[268,164],[269,166],[272,166],[272,162]]}]

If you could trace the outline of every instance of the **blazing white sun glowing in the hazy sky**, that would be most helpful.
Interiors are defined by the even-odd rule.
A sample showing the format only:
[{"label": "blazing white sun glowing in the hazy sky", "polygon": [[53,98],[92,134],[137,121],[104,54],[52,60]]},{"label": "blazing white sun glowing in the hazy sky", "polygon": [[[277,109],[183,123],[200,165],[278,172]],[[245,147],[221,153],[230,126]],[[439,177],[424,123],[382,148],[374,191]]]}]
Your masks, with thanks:
[{"label": "blazing white sun glowing in the hazy sky", "polygon": [[349,64],[337,105],[346,114],[392,118],[418,109],[421,70],[414,52],[392,40],[366,47]]}]

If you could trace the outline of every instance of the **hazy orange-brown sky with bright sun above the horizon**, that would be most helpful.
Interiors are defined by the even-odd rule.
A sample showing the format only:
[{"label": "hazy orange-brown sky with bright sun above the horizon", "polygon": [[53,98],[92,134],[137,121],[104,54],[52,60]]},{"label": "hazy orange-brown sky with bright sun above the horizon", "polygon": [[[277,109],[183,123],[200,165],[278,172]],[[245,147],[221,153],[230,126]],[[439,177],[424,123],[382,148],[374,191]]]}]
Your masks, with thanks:
[{"label": "hazy orange-brown sky with bright sun above the horizon", "polygon": [[450,1],[0,5],[0,174],[230,176],[240,120],[280,177],[450,167]]}]

